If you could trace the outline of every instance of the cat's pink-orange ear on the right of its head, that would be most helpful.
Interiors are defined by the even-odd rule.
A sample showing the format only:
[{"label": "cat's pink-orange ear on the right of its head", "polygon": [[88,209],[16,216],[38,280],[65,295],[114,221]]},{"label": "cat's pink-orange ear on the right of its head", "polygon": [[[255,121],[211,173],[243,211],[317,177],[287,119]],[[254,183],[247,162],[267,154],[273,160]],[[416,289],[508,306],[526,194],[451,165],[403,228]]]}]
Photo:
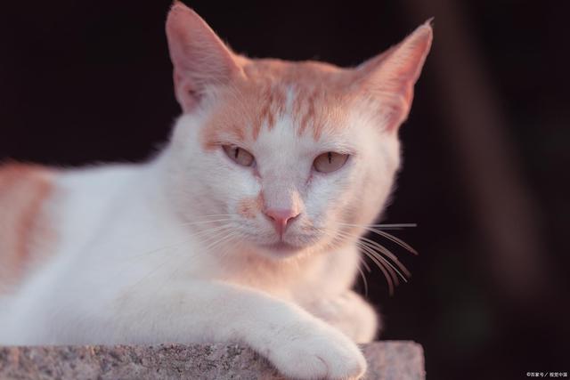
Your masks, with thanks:
[{"label": "cat's pink-orange ear on the right of its head", "polygon": [[432,38],[432,20],[428,20],[400,44],[356,68],[359,90],[379,101],[382,124],[387,131],[396,131],[408,117],[413,86],[426,61]]}]

